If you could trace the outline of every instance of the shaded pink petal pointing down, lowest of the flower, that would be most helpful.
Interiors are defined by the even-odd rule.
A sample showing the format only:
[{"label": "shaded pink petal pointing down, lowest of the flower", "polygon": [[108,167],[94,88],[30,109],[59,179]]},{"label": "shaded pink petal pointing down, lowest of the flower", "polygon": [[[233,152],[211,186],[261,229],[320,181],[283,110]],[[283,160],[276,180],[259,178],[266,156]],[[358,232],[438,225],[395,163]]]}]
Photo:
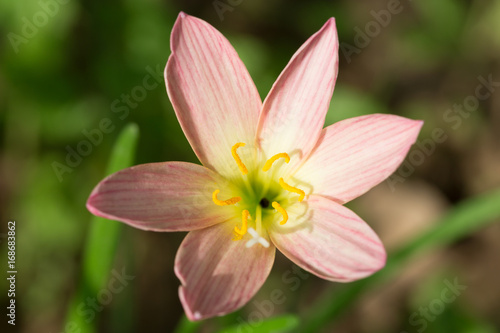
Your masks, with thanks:
[{"label": "shaded pink petal pointing down, lowest of the flower", "polygon": [[260,289],[274,262],[275,248],[233,241],[234,222],[190,232],[175,258],[179,297],[190,320],[233,312]]}]

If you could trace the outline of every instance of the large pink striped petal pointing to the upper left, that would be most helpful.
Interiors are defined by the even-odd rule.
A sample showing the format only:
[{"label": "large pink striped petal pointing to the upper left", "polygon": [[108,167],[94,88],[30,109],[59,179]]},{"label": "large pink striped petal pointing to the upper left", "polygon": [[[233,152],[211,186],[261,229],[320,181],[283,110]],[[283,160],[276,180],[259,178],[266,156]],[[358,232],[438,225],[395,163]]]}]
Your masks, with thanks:
[{"label": "large pink striped petal pointing to the upper left", "polygon": [[237,142],[253,145],[262,107],[229,41],[207,22],[181,13],[165,68],[167,92],[184,134],[204,166],[230,176]]}]

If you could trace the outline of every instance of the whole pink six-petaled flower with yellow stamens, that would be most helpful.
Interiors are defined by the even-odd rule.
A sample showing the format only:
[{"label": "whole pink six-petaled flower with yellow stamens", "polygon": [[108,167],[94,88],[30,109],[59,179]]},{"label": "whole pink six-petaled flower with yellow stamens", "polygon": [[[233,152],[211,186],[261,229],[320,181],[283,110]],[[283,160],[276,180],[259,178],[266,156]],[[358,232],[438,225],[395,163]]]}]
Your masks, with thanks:
[{"label": "whole pink six-petaled flower with yellow stamens", "polygon": [[262,103],[228,40],[180,13],[165,69],[202,165],[152,163],[101,181],[87,208],[153,231],[189,231],[175,259],[187,317],[224,315],[266,280],[276,248],[348,282],[385,265],[375,232],[343,204],[393,173],[422,121],[374,114],[323,128],[338,70],[334,18],[293,55]]}]

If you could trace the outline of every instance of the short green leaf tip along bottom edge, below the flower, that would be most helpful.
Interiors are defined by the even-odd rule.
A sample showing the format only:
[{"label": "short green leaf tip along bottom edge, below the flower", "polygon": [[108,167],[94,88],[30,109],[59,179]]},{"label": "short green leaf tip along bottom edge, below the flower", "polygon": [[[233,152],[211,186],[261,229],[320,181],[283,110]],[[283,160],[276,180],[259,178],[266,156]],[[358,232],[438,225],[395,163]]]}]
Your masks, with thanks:
[{"label": "short green leaf tip along bottom edge, below the flower", "polygon": [[299,318],[294,315],[283,315],[279,317],[269,318],[260,323],[243,323],[223,329],[219,333],[240,333],[240,332],[255,332],[255,333],[285,333],[295,330],[299,326]]}]

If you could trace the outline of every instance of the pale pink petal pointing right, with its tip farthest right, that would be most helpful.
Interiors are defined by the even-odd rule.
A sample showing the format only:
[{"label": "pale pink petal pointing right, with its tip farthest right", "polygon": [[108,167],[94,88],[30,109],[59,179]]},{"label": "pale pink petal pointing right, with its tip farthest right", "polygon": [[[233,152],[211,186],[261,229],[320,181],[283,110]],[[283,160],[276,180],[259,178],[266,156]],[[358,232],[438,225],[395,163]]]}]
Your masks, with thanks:
[{"label": "pale pink petal pointing right, with its tip farthest right", "polygon": [[422,125],[420,120],[384,114],[340,121],[323,130],[293,178],[309,184],[310,193],[350,201],[397,169]]}]

